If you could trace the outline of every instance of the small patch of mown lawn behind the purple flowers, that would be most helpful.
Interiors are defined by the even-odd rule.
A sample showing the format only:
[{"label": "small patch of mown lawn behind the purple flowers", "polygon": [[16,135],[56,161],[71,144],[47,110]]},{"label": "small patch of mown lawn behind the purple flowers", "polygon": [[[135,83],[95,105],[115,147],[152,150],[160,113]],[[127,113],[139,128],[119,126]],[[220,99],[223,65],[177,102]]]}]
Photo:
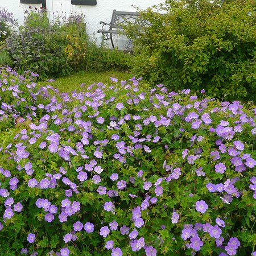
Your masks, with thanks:
[{"label": "small patch of mown lawn behind the purple flowers", "polygon": [[42,81],[38,82],[39,86],[52,85],[58,88],[60,92],[72,92],[73,90],[81,90],[80,85],[85,84],[89,86],[91,84],[97,84],[98,82],[103,82],[108,84],[111,80],[110,77],[115,77],[119,81],[128,80],[133,75],[129,72],[120,71],[106,71],[106,72],[77,72],[71,76],[60,77],[56,79],[55,82]]}]

